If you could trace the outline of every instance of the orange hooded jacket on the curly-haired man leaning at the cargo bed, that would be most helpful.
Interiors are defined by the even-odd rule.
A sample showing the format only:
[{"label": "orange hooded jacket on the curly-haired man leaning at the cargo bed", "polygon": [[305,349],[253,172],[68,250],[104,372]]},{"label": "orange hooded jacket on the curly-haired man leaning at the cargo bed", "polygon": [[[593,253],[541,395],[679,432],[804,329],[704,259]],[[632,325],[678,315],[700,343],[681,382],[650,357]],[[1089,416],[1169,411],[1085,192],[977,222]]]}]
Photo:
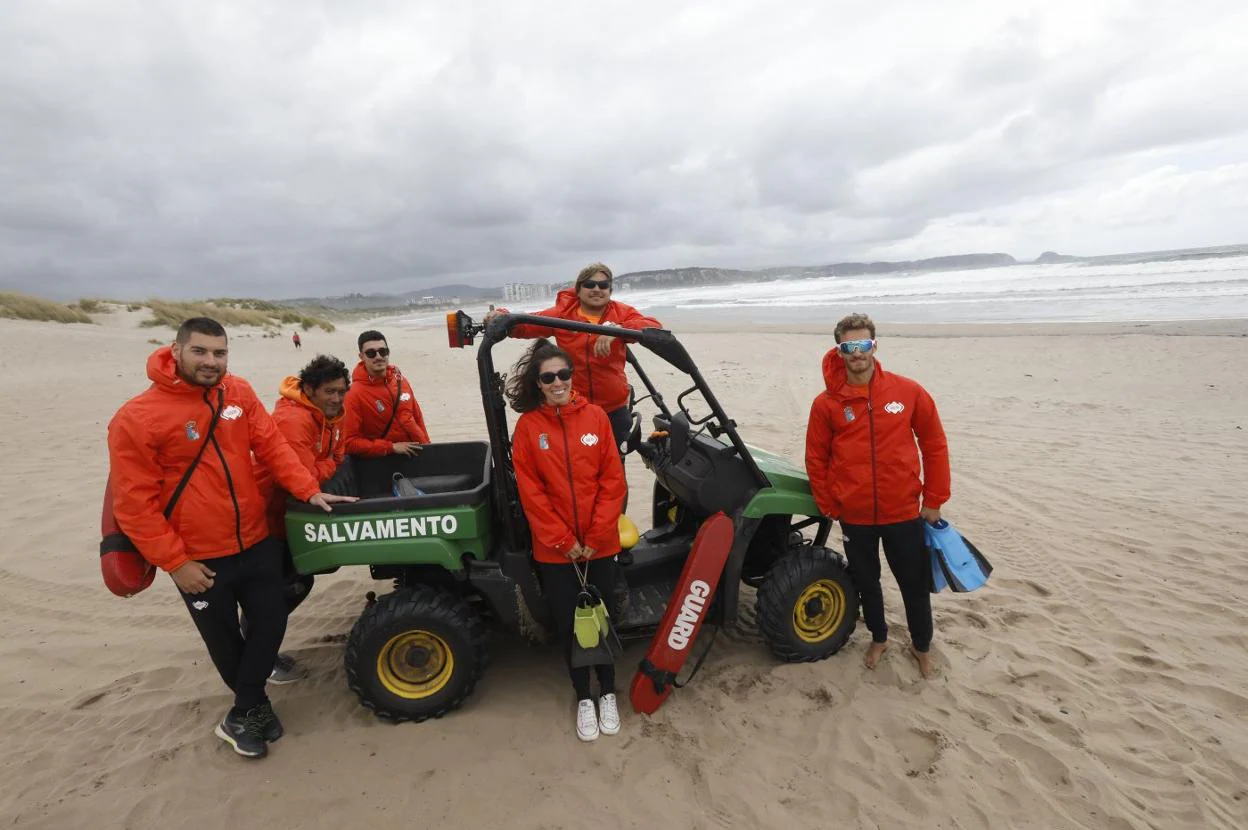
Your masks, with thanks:
[{"label": "orange hooded jacket on the curly-haired man leaning at the cargo bed", "polygon": [[[273,406],[273,423],[300,457],[303,468],[318,482],[332,478],[346,456],[343,419],[344,414],[326,418],[321,408],[303,394],[303,384],[297,377],[282,381]],[[268,530],[278,539],[285,539],[287,492],[277,486],[268,467],[258,458],[256,481],[261,492],[268,494]]]}]

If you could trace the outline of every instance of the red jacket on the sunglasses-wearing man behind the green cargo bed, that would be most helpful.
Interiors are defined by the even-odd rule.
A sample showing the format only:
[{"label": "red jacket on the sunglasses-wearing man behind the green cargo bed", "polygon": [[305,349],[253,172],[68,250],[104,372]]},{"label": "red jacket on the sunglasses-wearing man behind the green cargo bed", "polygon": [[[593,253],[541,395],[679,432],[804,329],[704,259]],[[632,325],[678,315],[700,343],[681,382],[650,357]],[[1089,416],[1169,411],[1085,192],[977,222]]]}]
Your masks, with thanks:
[{"label": "red jacket on the sunglasses-wearing man behind the green cargo bed", "polygon": [[[396,406],[398,412],[392,421],[391,412]],[[363,361],[356,363],[343,411],[342,433],[352,456],[389,456],[394,444],[402,441],[429,443],[424,413],[416,402],[412,384],[393,366],[386,367],[384,381],[374,381]],[[388,431],[387,423],[391,424]],[[382,434],[383,431],[386,434]]]}]

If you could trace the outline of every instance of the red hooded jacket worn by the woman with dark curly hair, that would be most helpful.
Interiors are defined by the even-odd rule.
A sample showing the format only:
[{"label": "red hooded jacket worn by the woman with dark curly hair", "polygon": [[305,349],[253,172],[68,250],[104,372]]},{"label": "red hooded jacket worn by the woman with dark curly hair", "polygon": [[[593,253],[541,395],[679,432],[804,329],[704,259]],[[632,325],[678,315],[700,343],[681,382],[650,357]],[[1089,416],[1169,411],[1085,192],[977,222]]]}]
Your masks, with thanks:
[{"label": "red hooded jacket worn by the woman with dark curly hair", "polygon": [[602,407],[573,393],[564,407],[543,404],[515,422],[512,462],[533,534],[533,558],[568,564],[575,542],[594,559],[620,550],[624,464]]}]

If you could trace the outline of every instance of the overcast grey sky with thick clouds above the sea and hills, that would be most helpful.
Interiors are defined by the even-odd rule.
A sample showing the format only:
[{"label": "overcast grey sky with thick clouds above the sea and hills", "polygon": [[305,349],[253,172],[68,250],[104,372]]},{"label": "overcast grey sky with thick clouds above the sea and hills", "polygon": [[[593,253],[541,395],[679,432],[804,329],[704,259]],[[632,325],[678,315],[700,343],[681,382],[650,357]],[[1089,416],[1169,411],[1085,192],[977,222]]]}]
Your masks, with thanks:
[{"label": "overcast grey sky with thick clouds above the sea and hills", "polygon": [[0,287],[1248,242],[1246,37],[1243,0],[2,0]]}]

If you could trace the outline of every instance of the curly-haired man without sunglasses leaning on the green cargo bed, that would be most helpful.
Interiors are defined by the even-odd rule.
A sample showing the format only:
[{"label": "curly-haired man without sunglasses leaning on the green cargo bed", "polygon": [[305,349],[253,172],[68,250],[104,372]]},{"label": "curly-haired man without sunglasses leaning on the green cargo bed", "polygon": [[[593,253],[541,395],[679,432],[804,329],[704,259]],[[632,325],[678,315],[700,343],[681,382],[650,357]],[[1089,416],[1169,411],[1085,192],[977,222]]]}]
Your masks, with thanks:
[{"label": "curly-haired man without sunglasses leaning on the green cargo bed", "polygon": [[[273,423],[290,443],[303,467],[318,482],[333,478],[344,457],[342,439],[343,399],[349,387],[347,367],[337,357],[318,354],[298,376],[287,377],[278,388],[273,406]],[[268,532],[276,539],[286,539],[286,499],[267,466],[256,459],[256,479],[268,493]],[[286,578],[286,613],[290,615],[307,599],[316,579],[295,570],[290,548],[283,545],[282,572]],[[270,683],[283,684],[301,680],[306,673],[288,654],[278,654]]]}]

